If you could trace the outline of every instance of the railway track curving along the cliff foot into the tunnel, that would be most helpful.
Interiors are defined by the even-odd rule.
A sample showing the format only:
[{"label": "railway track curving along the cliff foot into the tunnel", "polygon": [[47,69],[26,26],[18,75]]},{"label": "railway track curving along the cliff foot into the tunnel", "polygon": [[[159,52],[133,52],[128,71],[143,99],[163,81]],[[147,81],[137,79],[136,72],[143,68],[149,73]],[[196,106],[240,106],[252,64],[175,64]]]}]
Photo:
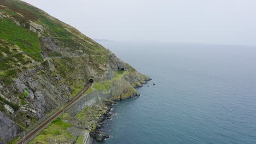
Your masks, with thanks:
[{"label": "railway track curving along the cliff foot into the tunnel", "polygon": [[46,119],[44,122],[42,122],[41,124],[39,124],[36,128],[34,128],[30,133],[28,133],[27,135],[25,135],[21,140],[18,141],[18,144],[21,143],[27,143],[30,140],[31,137],[36,136],[37,133],[39,133],[39,131],[42,131],[45,128],[45,125],[51,123],[55,118],[57,118],[62,112],[64,112],[65,110],[67,110],[73,103],[75,103],[75,101],[77,101],[92,85],[92,82],[89,82],[88,85],[86,87],[84,87],[82,89],[82,91],[80,91],[75,98],[73,98],[71,101],[69,101],[69,103],[63,107],[63,109],[57,111],[53,116],[49,117],[48,119]]}]

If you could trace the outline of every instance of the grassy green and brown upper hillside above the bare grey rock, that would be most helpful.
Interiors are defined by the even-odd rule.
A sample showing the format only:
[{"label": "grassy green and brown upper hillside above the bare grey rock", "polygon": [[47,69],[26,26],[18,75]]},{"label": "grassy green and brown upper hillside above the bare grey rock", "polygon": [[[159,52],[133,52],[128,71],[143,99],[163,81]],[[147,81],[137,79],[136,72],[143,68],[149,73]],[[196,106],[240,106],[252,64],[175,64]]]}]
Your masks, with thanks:
[{"label": "grassy green and brown upper hillside above the bare grey rock", "polygon": [[[5,84],[10,85],[12,82],[10,79],[16,77],[14,73],[20,72],[22,68],[25,70],[26,64],[31,66],[34,61],[43,62],[40,55],[40,38],[37,33],[30,31],[30,21],[44,26],[43,35],[56,39],[64,47],[70,47],[69,51],[83,50],[88,55],[98,56],[98,62],[106,62],[109,53],[107,49],[44,11],[17,0],[0,0],[0,5],[3,5],[0,7],[0,12],[9,15],[9,17],[0,19],[0,58],[4,57],[0,61],[0,81]],[[16,25],[16,21],[20,23],[20,26]],[[10,45],[14,45],[19,51],[11,50]],[[60,53],[49,52],[49,56],[60,56]],[[95,58],[91,59],[95,61]],[[62,59],[56,63],[64,63],[65,59],[63,62],[60,61]],[[58,70],[61,74],[65,73],[62,66],[67,65],[61,64],[57,67],[57,69],[60,68]],[[13,69],[14,71],[9,71]],[[77,92],[80,87],[75,86],[73,89]]]}]

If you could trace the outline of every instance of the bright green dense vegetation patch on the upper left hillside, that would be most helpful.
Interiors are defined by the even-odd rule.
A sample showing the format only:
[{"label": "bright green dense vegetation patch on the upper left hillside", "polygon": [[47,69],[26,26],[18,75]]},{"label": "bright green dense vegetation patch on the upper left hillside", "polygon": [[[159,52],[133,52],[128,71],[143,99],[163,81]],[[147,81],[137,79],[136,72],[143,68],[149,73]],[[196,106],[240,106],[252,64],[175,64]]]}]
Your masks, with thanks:
[{"label": "bright green dense vegetation patch on the upper left hillside", "polygon": [[29,53],[40,51],[37,34],[16,25],[9,19],[0,20],[0,37],[18,45],[22,51]]}]

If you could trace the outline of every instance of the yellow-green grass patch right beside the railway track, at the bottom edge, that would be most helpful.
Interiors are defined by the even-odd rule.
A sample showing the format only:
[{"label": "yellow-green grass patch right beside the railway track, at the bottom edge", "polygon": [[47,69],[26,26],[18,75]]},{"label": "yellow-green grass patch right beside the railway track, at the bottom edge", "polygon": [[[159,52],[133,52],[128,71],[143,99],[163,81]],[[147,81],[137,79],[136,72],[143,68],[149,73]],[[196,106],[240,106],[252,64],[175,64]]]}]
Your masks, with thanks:
[{"label": "yellow-green grass patch right beside the railway track, at the bottom edge", "polygon": [[49,137],[57,140],[74,140],[74,136],[67,131],[71,124],[63,122],[61,118],[56,118],[46,129],[36,136],[30,143],[48,143]]}]

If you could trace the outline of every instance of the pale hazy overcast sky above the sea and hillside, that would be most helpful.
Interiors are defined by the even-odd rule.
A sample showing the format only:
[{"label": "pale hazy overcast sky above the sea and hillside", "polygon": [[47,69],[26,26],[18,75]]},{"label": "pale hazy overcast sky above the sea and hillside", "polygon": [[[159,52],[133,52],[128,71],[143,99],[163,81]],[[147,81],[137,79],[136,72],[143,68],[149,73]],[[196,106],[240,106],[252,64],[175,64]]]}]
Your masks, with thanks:
[{"label": "pale hazy overcast sky above the sea and hillside", "polygon": [[256,45],[255,0],[24,0],[90,38]]}]

